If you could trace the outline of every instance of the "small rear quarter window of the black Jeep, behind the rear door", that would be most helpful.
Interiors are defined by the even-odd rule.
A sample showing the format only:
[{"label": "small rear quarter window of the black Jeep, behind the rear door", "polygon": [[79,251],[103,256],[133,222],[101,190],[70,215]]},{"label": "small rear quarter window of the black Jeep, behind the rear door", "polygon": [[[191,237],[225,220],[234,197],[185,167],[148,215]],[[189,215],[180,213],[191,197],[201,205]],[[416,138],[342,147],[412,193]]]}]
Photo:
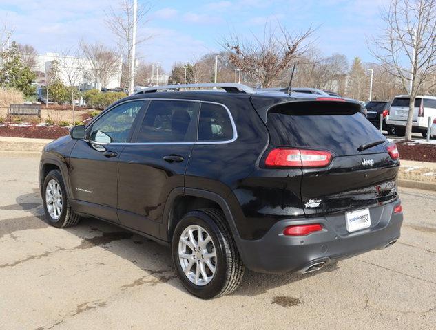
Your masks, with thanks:
[{"label": "small rear quarter window of the black Jeep, behind the rear door", "polygon": [[198,141],[227,141],[233,138],[229,113],[219,104],[202,103]]}]

